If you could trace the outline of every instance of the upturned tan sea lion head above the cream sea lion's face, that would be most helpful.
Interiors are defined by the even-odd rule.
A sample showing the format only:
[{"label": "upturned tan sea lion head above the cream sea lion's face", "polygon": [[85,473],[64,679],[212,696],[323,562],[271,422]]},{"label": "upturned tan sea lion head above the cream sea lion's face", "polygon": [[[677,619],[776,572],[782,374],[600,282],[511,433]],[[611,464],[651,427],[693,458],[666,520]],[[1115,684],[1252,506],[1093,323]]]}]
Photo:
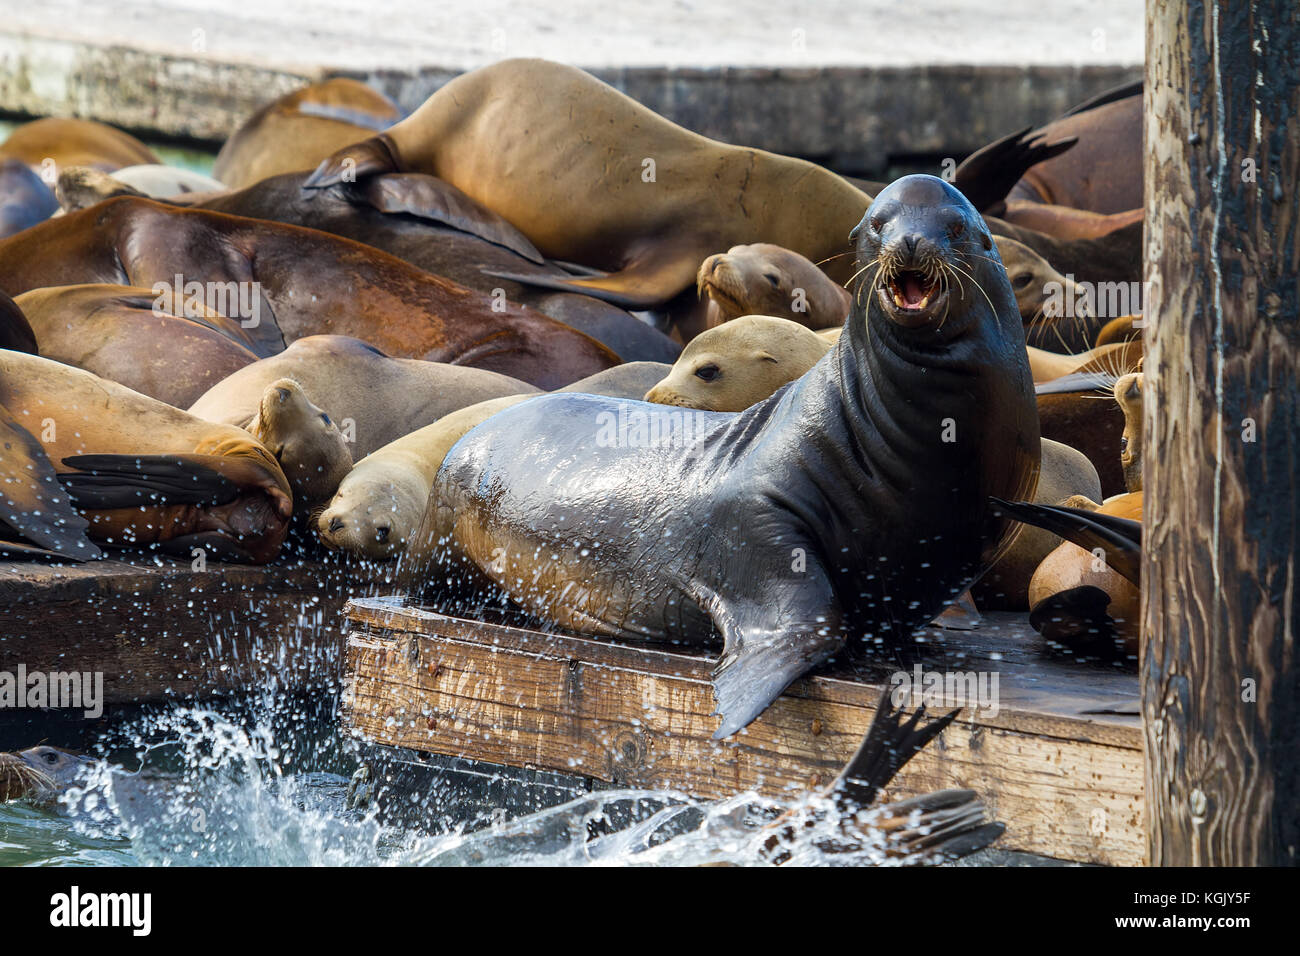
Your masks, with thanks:
[{"label": "upturned tan sea lion head above the cream sea lion's face", "polygon": [[328,499],[352,468],[343,433],[292,378],[266,386],[246,431],[276,457],[303,503]]}]

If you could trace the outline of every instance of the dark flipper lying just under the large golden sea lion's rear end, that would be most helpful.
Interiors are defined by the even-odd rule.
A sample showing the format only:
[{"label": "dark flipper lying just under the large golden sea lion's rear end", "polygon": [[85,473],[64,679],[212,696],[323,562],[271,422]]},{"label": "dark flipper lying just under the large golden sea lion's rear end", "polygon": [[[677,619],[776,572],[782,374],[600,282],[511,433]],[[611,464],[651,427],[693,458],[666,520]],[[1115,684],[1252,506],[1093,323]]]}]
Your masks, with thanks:
[{"label": "dark flipper lying just under the large golden sea lion's rear end", "polygon": [[546,258],[528,237],[510,222],[480,206],[450,182],[417,173],[370,176],[358,183],[354,194],[380,212],[406,215],[441,222],[542,264]]}]

